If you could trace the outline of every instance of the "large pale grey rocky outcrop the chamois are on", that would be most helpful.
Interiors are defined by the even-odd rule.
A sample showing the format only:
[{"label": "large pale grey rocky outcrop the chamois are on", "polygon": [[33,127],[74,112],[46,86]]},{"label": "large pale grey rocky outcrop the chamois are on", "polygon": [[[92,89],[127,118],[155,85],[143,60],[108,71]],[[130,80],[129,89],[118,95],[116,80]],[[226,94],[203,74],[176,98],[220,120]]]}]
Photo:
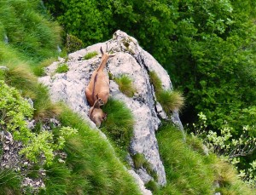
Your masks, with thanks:
[{"label": "large pale grey rocky outcrop the chamois are on", "polygon": [[[164,186],[166,174],[160,160],[155,131],[160,126],[160,119],[166,119],[167,116],[155,99],[154,87],[150,83],[148,72],[154,71],[159,75],[163,89],[172,89],[172,83],[164,68],[138,45],[135,38],[128,36],[125,32],[115,32],[113,38],[105,43],[97,43],[69,54],[67,60],[59,59],[59,61],[54,62],[46,68],[47,76],[39,78],[39,81],[49,87],[53,101],[66,102],[73,111],[79,112],[84,120],[96,128],[95,124],[88,118],[90,106],[86,101],[84,88],[90,81],[91,73],[100,63],[100,48],[106,50],[107,45],[115,56],[109,60],[106,73],[110,73],[113,77],[122,74],[131,77],[137,89],[137,93],[129,98],[119,91],[117,83],[110,80],[110,95],[114,99],[122,100],[131,109],[136,119],[130,147],[131,155],[142,153],[158,175],[157,182]],[[98,52],[98,55],[84,60],[85,54],[95,51]],[[57,66],[64,63],[67,64],[69,71],[56,73]],[[176,123],[180,129],[183,129],[177,112],[174,112],[172,118],[169,119]],[[144,169],[135,171],[144,183],[153,179]]]}]

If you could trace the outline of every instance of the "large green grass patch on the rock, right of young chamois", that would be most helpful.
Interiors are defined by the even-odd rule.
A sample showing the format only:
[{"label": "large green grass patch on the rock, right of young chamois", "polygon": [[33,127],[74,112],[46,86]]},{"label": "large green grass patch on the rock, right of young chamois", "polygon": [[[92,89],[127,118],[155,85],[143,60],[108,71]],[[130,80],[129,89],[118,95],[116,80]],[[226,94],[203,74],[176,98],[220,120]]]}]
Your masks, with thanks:
[{"label": "large green grass patch on the rock, right of young chamois", "polygon": [[108,113],[106,121],[102,123],[102,131],[114,141],[119,148],[128,151],[133,133],[134,119],[131,111],[120,100],[108,99],[102,107]]}]

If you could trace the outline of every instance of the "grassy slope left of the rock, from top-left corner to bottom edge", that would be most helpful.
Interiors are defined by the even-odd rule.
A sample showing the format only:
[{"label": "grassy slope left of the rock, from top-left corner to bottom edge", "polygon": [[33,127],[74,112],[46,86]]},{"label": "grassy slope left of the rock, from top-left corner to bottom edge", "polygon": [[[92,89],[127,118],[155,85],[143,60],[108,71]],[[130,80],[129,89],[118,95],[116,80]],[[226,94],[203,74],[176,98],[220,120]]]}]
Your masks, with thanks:
[{"label": "grassy slope left of the rock, from top-left corner to bottom edge", "polygon": [[[24,137],[26,135],[22,133],[15,139],[23,141],[24,146],[27,146],[26,154],[30,154],[26,155],[26,158],[34,162],[33,167],[28,172],[22,172],[22,175],[20,171],[1,168],[1,194],[21,194],[22,188],[26,194],[34,193],[32,189],[21,188],[20,182],[24,176],[37,178],[38,166],[42,165],[46,176],[45,188],[39,192],[40,194],[117,194],[119,192],[140,194],[131,175],[115,156],[108,141],[95,130],[90,129],[82,119],[65,106],[51,103],[48,90],[37,83],[37,77],[32,72],[33,67],[39,66],[39,63],[47,58],[57,56],[57,46],[60,43],[60,27],[49,21],[42,6],[41,1],[20,0],[0,3],[2,30],[0,62],[2,66],[8,67],[8,70],[0,70],[0,72],[1,80],[9,85],[3,86],[10,96],[0,100],[0,116],[4,118],[5,112],[12,113],[9,118],[1,119],[0,128],[9,130],[8,127],[12,126],[8,125],[17,123],[18,126],[15,126],[12,133],[16,135],[20,135],[20,132],[26,132],[26,135],[29,133],[30,137]],[[15,94],[11,96],[11,92]],[[35,119],[36,128],[32,131],[26,129],[26,126],[22,126],[21,129],[21,123],[24,124],[22,121],[26,117],[22,115],[23,112],[26,113],[25,108],[22,108],[22,102],[26,100],[20,101],[22,100],[20,95],[33,100],[34,110],[30,110],[32,114],[29,117]],[[15,100],[16,98],[19,99]],[[9,104],[10,100],[16,102],[16,106]],[[6,105],[5,101],[9,103]],[[20,110],[17,110],[17,102],[21,102]],[[42,126],[49,123],[49,118],[58,118],[61,121],[61,127],[77,129],[78,133],[66,138],[61,135],[60,127],[52,129],[46,136]],[[58,144],[57,140],[61,136],[65,139],[65,146],[58,149],[54,145]],[[32,137],[37,137],[37,141],[33,142]],[[41,142],[39,139],[44,141]],[[67,153],[66,161],[60,162],[59,157],[55,156],[53,159],[46,158],[49,160],[46,162],[43,160],[42,164],[40,153],[48,157],[57,149]],[[32,175],[31,172],[34,174]]]}]

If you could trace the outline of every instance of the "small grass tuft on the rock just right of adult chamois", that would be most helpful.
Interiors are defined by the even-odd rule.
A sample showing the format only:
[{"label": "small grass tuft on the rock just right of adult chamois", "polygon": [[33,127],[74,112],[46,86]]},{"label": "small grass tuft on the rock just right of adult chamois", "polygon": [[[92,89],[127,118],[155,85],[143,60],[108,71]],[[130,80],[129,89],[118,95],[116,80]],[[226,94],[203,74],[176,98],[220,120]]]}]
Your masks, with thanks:
[{"label": "small grass tuft on the rock just right of adult chamois", "polygon": [[121,75],[114,77],[113,80],[119,85],[119,90],[128,97],[132,97],[136,93],[136,89],[130,77]]}]

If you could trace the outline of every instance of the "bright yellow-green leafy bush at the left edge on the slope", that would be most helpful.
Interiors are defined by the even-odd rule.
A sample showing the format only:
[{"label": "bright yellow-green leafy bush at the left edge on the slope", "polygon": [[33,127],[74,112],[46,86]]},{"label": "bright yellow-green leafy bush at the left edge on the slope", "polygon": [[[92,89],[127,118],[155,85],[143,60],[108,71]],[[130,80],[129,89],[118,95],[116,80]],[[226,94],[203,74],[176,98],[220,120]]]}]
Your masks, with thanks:
[{"label": "bright yellow-green leafy bush at the left edge on the slope", "polygon": [[[0,81],[0,89],[1,128],[11,132],[15,140],[23,142],[24,147],[20,150],[20,154],[24,154],[35,163],[41,160],[43,163],[52,163],[53,151],[63,148],[67,137],[75,134],[76,130],[62,127],[57,141],[54,141],[50,131],[33,133],[27,128],[25,120],[32,118],[32,106],[20,96],[16,89],[10,88],[3,81]],[[41,159],[42,153],[45,159]]]}]

